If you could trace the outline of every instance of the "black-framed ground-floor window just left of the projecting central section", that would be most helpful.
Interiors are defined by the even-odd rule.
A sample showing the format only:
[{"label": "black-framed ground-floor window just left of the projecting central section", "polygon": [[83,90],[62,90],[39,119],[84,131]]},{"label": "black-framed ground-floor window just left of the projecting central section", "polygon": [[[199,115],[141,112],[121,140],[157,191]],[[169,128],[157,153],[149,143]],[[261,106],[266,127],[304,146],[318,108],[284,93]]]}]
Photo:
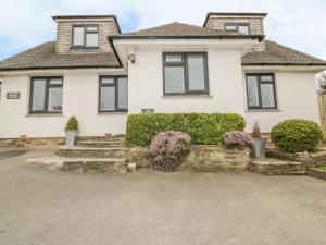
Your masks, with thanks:
[{"label": "black-framed ground-floor window just left of the projecting central section", "polygon": [[128,111],[128,77],[100,76],[99,111]]}]

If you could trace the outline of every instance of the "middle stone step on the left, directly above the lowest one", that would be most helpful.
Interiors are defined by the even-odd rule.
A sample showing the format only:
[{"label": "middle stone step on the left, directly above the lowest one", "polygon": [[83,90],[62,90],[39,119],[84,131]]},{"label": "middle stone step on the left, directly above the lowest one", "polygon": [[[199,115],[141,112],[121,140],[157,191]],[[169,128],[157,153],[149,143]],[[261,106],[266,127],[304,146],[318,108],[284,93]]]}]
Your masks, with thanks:
[{"label": "middle stone step on the left, directly above the lowest one", "polygon": [[127,158],[128,149],[124,147],[88,148],[88,147],[60,147],[59,157],[68,158]]}]

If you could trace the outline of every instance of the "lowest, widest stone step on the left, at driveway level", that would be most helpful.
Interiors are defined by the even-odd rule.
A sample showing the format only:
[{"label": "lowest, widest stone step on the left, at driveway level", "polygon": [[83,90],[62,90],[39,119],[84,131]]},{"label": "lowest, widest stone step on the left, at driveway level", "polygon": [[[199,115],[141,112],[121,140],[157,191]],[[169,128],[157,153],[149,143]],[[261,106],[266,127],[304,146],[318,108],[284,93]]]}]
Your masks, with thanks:
[{"label": "lowest, widest stone step on the left, at driveway level", "polygon": [[27,160],[29,163],[61,171],[96,172],[96,173],[126,173],[127,158],[65,158],[41,157]]}]

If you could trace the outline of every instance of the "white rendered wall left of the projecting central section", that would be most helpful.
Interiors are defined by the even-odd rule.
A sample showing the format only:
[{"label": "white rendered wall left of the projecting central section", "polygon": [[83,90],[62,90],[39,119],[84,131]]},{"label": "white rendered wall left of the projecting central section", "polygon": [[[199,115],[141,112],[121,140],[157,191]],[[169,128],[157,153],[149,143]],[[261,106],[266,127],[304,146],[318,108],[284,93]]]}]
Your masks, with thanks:
[{"label": "white rendered wall left of the projecting central section", "polygon": [[[42,74],[46,75],[46,74]],[[53,75],[53,74],[52,74]],[[99,74],[55,73],[63,75],[63,113],[28,115],[28,75],[1,76],[0,138],[62,137],[70,117],[79,121],[79,134],[101,136],[125,133],[127,113],[98,113]],[[7,93],[20,91],[20,99],[9,100]]]}]

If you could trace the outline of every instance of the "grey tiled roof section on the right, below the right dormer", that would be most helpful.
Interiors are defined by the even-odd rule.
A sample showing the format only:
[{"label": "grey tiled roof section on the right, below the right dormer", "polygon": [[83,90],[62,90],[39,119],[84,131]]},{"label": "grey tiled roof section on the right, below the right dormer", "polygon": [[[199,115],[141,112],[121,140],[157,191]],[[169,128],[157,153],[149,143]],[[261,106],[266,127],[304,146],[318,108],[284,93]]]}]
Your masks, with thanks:
[{"label": "grey tiled roof section on the right, below the right dormer", "polygon": [[326,65],[326,61],[305,54],[275,41],[265,40],[266,51],[247,53],[242,58],[242,65],[273,64],[273,65]]}]

